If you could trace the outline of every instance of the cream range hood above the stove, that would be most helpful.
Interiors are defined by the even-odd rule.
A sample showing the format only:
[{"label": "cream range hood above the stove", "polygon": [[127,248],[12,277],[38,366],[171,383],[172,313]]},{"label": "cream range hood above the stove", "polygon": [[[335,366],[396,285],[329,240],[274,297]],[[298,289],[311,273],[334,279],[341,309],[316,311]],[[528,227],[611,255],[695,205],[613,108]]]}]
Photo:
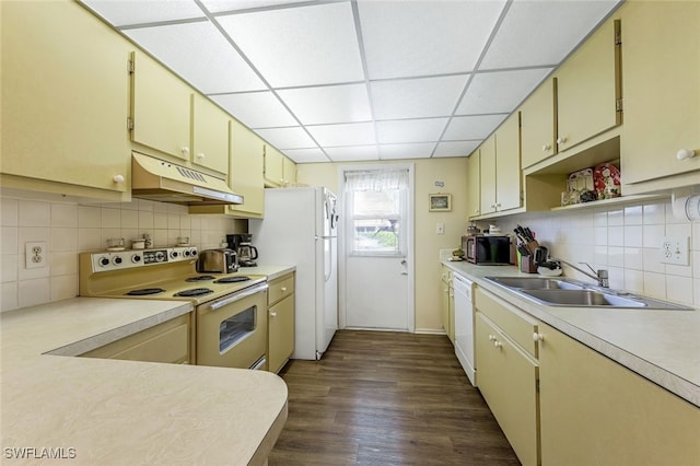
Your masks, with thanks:
[{"label": "cream range hood above the stove", "polygon": [[243,203],[223,179],[131,152],[131,196],[185,206]]}]

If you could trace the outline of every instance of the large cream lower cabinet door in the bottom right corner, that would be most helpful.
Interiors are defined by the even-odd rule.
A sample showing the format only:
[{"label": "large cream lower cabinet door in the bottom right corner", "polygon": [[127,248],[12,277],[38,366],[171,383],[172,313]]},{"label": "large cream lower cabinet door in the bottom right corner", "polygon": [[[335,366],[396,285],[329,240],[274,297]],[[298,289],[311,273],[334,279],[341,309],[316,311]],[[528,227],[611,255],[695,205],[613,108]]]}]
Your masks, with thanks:
[{"label": "large cream lower cabinet door in the bottom right corner", "polygon": [[698,464],[700,408],[549,326],[540,334],[544,465]]}]

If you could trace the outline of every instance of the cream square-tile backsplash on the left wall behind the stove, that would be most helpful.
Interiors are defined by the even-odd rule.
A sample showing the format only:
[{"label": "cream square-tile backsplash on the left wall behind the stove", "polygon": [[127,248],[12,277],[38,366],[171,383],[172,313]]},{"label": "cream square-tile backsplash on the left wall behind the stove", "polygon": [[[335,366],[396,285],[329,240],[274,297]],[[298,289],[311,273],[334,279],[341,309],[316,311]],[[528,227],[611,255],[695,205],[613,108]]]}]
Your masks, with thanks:
[{"label": "cream square-tile backsplash on the left wall behind the stove", "polygon": [[[3,194],[0,201],[0,312],[78,295],[78,253],[104,249],[109,237],[130,244],[149,233],[154,246],[172,246],[178,236],[189,236],[191,244],[207,249],[247,226],[224,215],[189,214],[184,206],[141,199],[82,203]],[[25,267],[27,242],[47,243],[48,267]]]}]

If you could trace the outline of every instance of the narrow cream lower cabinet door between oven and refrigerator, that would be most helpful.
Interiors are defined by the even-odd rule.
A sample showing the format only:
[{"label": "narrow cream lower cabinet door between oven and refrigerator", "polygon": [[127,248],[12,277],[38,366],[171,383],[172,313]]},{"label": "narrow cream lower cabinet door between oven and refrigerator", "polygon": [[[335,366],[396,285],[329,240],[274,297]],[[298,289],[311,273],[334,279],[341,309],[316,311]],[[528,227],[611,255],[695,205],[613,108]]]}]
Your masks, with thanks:
[{"label": "narrow cream lower cabinet door between oven and refrigerator", "polygon": [[269,308],[268,368],[279,372],[294,351],[294,295]]}]

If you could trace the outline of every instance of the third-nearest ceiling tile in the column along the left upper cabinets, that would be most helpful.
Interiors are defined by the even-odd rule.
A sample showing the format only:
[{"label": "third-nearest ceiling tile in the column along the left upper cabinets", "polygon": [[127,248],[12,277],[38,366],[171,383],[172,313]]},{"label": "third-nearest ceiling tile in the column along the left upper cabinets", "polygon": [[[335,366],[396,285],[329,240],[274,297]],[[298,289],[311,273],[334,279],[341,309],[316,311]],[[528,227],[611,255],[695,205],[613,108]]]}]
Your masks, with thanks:
[{"label": "third-nearest ceiling tile in the column along the left upper cabinets", "polygon": [[292,115],[270,91],[211,95],[210,98],[253,129],[298,125]]}]

